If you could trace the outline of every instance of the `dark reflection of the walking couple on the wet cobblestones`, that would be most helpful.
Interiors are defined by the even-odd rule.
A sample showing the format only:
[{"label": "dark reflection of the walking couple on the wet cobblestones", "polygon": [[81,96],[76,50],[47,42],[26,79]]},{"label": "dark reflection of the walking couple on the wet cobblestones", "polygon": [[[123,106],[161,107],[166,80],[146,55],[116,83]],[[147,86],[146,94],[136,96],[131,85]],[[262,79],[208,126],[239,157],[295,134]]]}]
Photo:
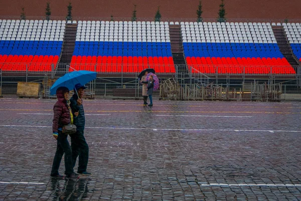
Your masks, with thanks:
[{"label": "dark reflection of the walking couple on the wet cobblestones", "polygon": [[52,196],[54,200],[80,200],[87,197],[88,179],[61,180],[51,179]]}]

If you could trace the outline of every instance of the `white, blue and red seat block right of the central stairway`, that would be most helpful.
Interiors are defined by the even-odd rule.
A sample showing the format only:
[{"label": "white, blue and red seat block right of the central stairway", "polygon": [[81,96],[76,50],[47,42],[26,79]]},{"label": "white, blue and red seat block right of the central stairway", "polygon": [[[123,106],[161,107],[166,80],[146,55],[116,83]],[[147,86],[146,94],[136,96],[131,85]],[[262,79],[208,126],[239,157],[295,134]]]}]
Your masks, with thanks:
[{"label": "white, blue and red seat block right of the central stairway", "polygon": [[181,33],[193,73],[295,73],[269,23],[181,23]]}]

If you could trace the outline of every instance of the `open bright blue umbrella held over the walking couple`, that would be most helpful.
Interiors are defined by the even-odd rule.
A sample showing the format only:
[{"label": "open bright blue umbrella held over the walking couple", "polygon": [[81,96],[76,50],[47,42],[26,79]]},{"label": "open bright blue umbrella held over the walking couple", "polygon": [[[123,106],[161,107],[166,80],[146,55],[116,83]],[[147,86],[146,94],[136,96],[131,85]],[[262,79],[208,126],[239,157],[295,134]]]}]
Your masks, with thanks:
[{"label": "open bright blue umbrella held over the walking couple", "polygon": [[75,84],[80,83],[85,85],[89,81],[96,78],[96,72],[91,72],[88,70],[79,70],[67,73],[60,77],[50,88],[50,94],[56,94],[56,90],[61,86],[66,86],[69,90],[73,90]]}]

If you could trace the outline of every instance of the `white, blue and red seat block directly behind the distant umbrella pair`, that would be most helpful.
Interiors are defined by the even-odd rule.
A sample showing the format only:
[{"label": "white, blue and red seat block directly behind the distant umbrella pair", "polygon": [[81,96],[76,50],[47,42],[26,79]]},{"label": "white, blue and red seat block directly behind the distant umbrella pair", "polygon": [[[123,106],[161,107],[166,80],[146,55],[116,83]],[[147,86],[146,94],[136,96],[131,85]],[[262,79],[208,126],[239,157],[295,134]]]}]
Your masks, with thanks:
[{"label": "white, blue and red seat block directly behind the distant umbrella pair", "polygon": [[175,73],[169,24],[78,21],[72,70]]}]

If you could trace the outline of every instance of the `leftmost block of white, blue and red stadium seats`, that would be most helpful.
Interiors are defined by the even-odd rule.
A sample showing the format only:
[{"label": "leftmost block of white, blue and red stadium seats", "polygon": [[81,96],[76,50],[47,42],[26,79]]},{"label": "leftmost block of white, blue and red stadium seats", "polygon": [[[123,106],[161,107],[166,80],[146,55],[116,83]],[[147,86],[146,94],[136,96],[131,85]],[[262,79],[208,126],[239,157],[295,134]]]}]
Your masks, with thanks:
[{"label": "leftmost block of white, blue and red stadium seats", "polygon": [[51,71],[61,54],[65,24],[56,20],[0,20],[0,68]]}]

